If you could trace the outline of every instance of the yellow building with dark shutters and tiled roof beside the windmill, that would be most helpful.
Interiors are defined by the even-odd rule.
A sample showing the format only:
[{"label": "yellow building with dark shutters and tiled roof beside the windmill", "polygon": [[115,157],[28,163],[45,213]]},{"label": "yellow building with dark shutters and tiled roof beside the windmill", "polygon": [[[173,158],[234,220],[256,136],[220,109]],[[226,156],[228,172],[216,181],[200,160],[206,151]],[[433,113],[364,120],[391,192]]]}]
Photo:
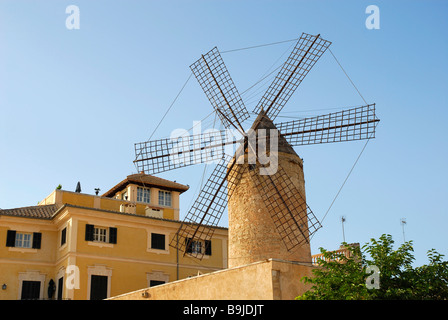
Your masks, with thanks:
[{"label": "yellow building with dark shutters and tiled roof beside the windmill", "polygon": [[0,299],[104,299],[227,268],[227,228],[193,243],[201,261],[169,246],[186,190],[140,173],[102,196],[57,189],[0,210]]}]

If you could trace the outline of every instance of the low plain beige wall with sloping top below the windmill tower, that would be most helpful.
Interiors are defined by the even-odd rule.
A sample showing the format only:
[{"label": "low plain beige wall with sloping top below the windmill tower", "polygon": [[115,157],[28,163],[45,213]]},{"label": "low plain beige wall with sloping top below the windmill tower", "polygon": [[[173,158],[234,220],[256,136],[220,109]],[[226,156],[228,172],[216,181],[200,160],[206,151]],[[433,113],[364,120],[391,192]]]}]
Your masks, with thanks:
[{"label": "low plain beige wall with sloping top below the windmill tower", "polygon": [[113,297],[113,300],[290,300],[309,289],[312,266],[269,259]]}]

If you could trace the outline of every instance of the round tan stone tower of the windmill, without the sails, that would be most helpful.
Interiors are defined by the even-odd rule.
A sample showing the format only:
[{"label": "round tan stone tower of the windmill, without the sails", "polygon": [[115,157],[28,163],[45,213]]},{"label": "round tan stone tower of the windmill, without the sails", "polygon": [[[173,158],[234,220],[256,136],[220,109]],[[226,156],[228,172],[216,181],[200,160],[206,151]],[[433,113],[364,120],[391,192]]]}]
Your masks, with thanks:
[{"label": "round tan stone tower of the windmill, without the sails", "polygon": [[[257,137],[260,136],[259,130],[266,130],[268,133],[277,130],[268,118],[263,116],[259,118],[260,125],[255,131]],[[275,165],[270,163],[270,167],[274,166],[273,171],[277,171],[272,175],[276,179],[275,182],[273,181],[274,184],[271,184],[270,178],[257,177],[260,174],[260,168],[249,164],[248,160],[251,150],[239,155],[240,159],[237,162],[242,164],[238,170],[242,174],[238,177],[239,181],[231,182],[236,186],[232,197],[228,200],[229,268],[268,258],[311,262],[309,241],[303,241],[296,250],[289,250],[286,242],[284,243],[288,241],[287,244],[292,246],[294,240],[291,242],[289,239],[291,236],[297,239],[309,239],[305,180],[302,159],[284,137],[274,137],[273,141],[276,141],[275,139],[277,146],[271,148],[269,145],[271,136],[266,135],[268,144],[266,150],[269,150],[266,152],[269,152],[271,161],[277,162]],[[258,143],[254,145],[257,148],[260,147]],[[285,210],[281,195],[287,198],[293,194],[297,201],[294,207],[300,212],[290,217],[278,215],[277,212]],[[284,213],[289,215],[287,211]],[[294,221],[289,221],[292,219]],[[317,229],[320,226],[318,221],[314,216],[311,220],[315,224],[313,227]],[[290,223],[299,225],[290,226]],[[304,234],[301,234],[301,231]]]}]

